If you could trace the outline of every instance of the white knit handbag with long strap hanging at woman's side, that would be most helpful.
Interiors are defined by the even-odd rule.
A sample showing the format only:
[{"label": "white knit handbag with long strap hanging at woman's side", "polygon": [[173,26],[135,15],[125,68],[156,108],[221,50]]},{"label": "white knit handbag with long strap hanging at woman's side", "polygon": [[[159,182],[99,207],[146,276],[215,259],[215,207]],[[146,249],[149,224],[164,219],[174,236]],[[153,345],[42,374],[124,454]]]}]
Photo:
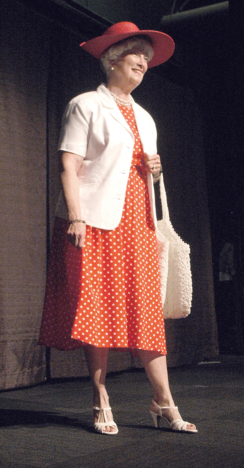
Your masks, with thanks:
[{"label": "white knit handbag with long strap hanging at woman's side", "polygon": [[160,175],[160,197],[163,219],[158,221],[156,236],[163,314],[166,319],[180,319],[187,317],[191,309],[190,247],[176,234],[169,220],[162,174]]}]

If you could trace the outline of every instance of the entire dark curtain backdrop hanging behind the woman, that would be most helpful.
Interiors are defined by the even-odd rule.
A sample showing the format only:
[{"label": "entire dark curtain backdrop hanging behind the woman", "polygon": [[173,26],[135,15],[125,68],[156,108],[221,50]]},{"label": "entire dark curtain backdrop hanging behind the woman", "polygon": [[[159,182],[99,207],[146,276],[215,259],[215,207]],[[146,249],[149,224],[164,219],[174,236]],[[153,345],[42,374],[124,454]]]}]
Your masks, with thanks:
[{"label": "entire dark curtain backdrop hanging behind the woman", "polygon": [[[1,61],[1,388],[13,388],[45,376],[45,349],[37,337],[59,192],[56,146],[62,113],[73,96],[96,88],[102,76],[97,61],[79,49],[85,32],[78,34],[16,2],[4,2],[1,16],[6,18]],[[134,98],[155,119],[172,223],[191,248],[192,312],[166,323],[168,364],[190,364],[217,354],[201,118],[192,92],[165,75],[148,72]],[[157,209],[160,216],[158,202]],[[130,366],[140,364],[129,352],[112,351],[109,371]],[[87,374],[81,351],[52,350],[50,369],[51,377]]]}]

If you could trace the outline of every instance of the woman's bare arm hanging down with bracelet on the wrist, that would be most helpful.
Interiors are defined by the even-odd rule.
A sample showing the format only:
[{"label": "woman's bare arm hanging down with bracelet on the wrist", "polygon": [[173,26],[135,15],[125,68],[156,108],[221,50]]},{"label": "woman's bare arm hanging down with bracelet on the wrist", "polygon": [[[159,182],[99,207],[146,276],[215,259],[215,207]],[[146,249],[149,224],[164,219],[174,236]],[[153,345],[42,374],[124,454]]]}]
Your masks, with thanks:
[{"label": "woman's bare arm hanging down with bracelet on the wrist", "polygon": [[84,158],[78,154],[62,154],[61,180],[63,184],[63,193],[68,207],[69,220],[77,219],[79,221],[71,223],[67,231],[70,242],[82,249],[84,245],[86,225],[82,217],[79,200],[78,171],[82,166]]}]

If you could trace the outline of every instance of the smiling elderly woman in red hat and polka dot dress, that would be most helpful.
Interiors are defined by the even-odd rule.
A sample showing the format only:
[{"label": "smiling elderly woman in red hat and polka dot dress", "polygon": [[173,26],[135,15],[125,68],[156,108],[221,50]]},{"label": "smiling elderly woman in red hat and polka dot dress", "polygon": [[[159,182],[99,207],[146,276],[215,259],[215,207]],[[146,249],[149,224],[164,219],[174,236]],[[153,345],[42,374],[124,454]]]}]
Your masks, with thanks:
[{"label": "smiling elderly woman in red hat and polka dot dress", "polygon": [[[131,92],[174,51],[171,37],[122,22],[81,46],[106,85],[71,100],[63,117],[63,192],[56,210],[40,343],[83,346],[95,430],[117,434],[105,374],[109,348],[135,352],[153,388],[150,412],[173,431],[197,432],[170,393],[155,236],[156,128]],[[68,234],[68,235],[67,235]]]}]

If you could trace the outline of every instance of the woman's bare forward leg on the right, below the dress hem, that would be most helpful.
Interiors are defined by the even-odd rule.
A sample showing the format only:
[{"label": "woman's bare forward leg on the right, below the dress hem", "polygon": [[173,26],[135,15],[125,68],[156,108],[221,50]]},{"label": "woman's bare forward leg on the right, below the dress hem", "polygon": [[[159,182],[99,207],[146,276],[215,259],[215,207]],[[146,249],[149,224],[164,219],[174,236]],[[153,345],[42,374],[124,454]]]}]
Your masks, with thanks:
[{"label": "woman's bare forward leg on the right, below the dress hem", "polygon": [[[154,401],[159,406],[175,406],[168,383],[166,356],[162,356],[157,351],[138,350],[138,353],[148,380],[153,387]],[[150,409],[155,413],[157,412],[153,403]],[[176,409],[166,409],[164,413],[170,421],[179,418],[179,413]],[[195,425],[189,424],[187,429],[195,429]]]}]

